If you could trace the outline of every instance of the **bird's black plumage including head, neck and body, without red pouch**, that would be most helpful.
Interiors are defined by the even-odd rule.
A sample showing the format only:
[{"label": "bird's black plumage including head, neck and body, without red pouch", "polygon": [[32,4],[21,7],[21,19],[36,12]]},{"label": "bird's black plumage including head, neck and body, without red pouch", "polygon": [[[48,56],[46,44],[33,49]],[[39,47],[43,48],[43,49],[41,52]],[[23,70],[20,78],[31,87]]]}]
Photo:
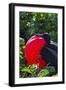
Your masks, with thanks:
[{"label": "bird's black plumage including head, neck and body, without red pouch", "polygon": [[43,47],[40,54],[47,64],[54,66],[56,73],[58,72],[57,45],[50,40],[48,33],[37,34],[46,40],[46,47]]}]

